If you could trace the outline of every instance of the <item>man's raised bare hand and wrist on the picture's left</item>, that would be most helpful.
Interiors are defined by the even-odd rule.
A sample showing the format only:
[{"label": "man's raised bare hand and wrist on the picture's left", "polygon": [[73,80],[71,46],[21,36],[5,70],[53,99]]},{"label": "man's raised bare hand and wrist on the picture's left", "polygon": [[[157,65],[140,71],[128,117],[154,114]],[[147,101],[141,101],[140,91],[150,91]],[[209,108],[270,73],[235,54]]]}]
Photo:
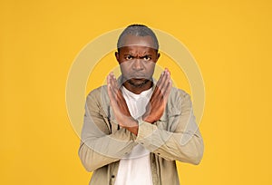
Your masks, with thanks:
[{"label": "man's raised bare hand and wrist on the picture's left", "polygon": [[135,135],[138,134],[138,122],[131,117],[128,105],[121,94],[116,78],[113,73],[107,76],[108,94],[112,105],[112,111],[118,124],[131,131]]}]

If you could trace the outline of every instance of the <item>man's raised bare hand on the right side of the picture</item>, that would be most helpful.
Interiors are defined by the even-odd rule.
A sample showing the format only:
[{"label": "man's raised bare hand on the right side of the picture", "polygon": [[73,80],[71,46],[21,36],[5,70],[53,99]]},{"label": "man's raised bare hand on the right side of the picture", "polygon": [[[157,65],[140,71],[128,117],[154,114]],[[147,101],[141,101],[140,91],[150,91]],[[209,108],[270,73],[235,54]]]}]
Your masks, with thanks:
[{"label": "man's raised bare hand on the right side of the picture", "polygon": [[146,106],[146,112],[142,115],[143,121],[153,123],[160,119],[164,112],[171,87],[170,71],[165,69],[160,74],[160,79],[151,95],[151,100]]}]

